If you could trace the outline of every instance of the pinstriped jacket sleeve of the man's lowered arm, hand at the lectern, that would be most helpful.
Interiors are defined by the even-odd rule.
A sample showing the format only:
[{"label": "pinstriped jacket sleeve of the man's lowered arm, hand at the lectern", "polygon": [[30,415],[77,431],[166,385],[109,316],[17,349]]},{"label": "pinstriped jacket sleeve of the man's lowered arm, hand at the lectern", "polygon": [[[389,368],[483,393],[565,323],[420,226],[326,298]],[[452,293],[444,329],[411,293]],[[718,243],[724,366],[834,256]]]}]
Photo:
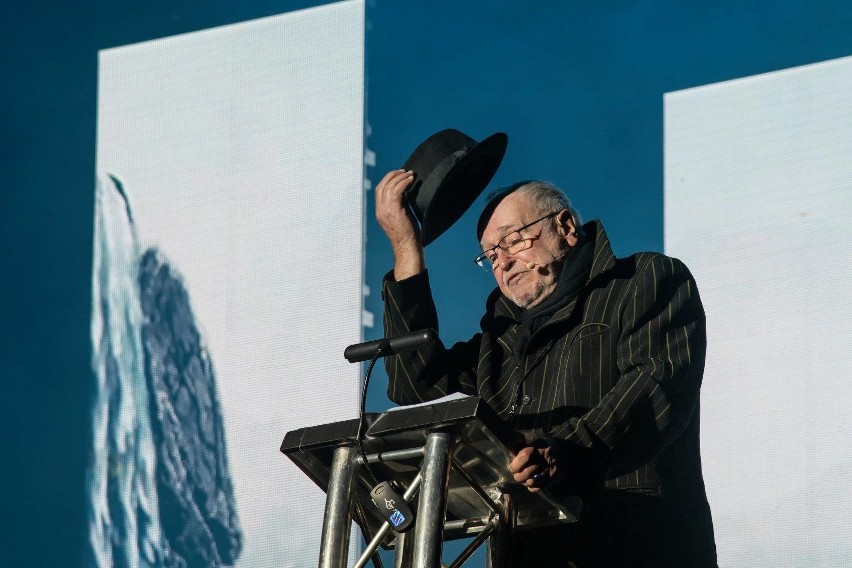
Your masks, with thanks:
[{"label": "pinstriped jacket sleeve of the man's lowered arm, hand at the lectern", "polygon": [[704,309],[692,275],[677,259],[645,260],[621,310],[615,386],[550,432],[605,456],[610,475],[645,463],[684,431],[704,371]]}]

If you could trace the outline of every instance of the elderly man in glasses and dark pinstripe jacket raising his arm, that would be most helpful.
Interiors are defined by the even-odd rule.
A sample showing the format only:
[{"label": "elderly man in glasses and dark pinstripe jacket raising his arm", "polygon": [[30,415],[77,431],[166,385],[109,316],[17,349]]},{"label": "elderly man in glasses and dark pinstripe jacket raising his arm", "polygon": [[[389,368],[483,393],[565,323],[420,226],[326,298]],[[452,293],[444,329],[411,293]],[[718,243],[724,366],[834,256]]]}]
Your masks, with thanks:
[{"label": "elderly man in glasses and dark pinstripe jacket raising his arm", "polygon": [[[394,253],[386,335],[438,327],[406,170],[376,187]],[[598,221],[565,195],[522,182],[493,196],[476,262],[493,271],[481,331],[388,358],[400,404],[482,397],[529,445],[508,464],[530,491],[580,495],[576,523],[518,531],[515,566],[716,566],[698,439],[704,311],[678,260],[613,256]]]}]

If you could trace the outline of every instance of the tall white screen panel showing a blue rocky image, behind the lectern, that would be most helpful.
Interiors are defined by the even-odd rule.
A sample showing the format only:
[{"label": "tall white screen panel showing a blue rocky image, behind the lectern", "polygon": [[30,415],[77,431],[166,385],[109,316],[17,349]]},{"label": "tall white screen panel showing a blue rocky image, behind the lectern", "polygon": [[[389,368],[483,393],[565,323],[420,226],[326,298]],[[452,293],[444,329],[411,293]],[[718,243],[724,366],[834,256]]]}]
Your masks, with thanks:
[{"label": "tall white screen panel showing a blue rocky image, behind the lectern", "polygon": [[316,563],[278,447],[357,415],[363,51],[349,1],[100,52],[88,565]]}]

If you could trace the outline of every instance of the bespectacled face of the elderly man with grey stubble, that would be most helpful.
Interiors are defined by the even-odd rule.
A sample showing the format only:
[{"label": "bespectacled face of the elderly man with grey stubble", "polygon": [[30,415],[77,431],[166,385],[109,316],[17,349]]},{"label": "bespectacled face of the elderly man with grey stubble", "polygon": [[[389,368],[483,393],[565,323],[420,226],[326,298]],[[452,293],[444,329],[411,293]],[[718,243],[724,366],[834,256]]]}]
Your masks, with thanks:
[{"label": "bespectacled face of the elderly man with grey stubble", "polygon": [[[485,226],[480,243],[483,250],[542,216],[525,194],[508,195]],[[531,308],[547,298],[556,289],[565,254],[577,244],[574,229],[571,216],[563,211],[521,231],[521,236],[533,238],[526,250],[509,254],[498,247],[494,278],[500,291],[522,308]]]}]

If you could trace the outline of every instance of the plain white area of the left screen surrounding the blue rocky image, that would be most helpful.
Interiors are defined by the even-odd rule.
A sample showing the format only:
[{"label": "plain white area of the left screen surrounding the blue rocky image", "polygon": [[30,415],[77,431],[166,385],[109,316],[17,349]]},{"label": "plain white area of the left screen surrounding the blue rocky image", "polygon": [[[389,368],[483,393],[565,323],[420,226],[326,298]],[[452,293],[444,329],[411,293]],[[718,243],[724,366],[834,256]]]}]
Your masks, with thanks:
[{"label": "plain white area of the left screen surrounding the blue rocky image", "polygon": [[[215,371],[238,566],[316,563],[325,496],[278,448],[289,430],[357,415],[360,371],[343,349],[362,333],[363,96],[362,1],[100,53],[96,359],[97,304],[134,285],[118,259],[135,252],[118,249],[135,238],[131,249],[156,247],[180,276]],[[132,229],[118,226],[126,219],[108,176],[127,194]],[[100,289],[98,271],[109,274]],[[128,388],[144,390],[135,380]],[[99,388],[96,435],[112,427],[110,412],[135,432],[151,427],[143,411],[110,410]],[[136,451],[153,469],[146,444]],[[114,458],[94,459],[90,485],[107,527],[90,528],[102,561],[114,546],[100,541],[104,460]],[[139,493],[154,501],[149,512],[154,493]],[[151,528],[149,544],[162,533]]]}]

